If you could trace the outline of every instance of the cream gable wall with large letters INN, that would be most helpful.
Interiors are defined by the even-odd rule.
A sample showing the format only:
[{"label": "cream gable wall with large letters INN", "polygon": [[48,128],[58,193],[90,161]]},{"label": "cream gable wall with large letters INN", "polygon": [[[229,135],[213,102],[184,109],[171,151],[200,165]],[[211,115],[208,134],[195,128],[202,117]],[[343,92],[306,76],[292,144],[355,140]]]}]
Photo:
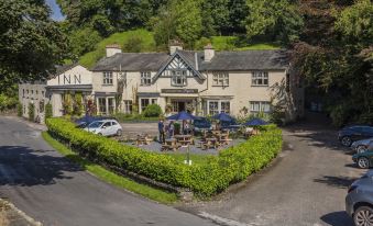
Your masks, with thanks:
[{"label": "cream gable wall with large letters INN", "polygon": [[92,72],[78,65],[55,78],[50,79],[46,83],[47,86],[91,84]]}]

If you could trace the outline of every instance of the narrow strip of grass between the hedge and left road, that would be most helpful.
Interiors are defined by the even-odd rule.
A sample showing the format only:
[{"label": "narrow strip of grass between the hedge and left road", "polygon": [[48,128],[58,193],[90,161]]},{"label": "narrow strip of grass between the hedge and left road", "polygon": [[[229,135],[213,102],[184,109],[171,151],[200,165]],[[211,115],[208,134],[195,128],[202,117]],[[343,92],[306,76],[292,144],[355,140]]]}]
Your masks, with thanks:
[{"label": "narrow strip of grass between the hedge and left road", "polygon": [[161,203],[169,204],[177,201],[177,195],[175,193],[162,191],[145,184],[138,183],[128,178],[118,176],[97,163],[94,163],[91,161],[88,161],[87,159],[81,158],[79,155],[77,155],[76,152],[68,149],[66,146],[51,137],[51,135],[47,132],[43,132],[42,136],[45,139],[45,142],[47,142],[54,149],[59,151],[66,158],[78,163],[85,170],[91,172],[92,174],[108,183],[132,191],[134,193],[141,194],[145,197],[149,197]]}]

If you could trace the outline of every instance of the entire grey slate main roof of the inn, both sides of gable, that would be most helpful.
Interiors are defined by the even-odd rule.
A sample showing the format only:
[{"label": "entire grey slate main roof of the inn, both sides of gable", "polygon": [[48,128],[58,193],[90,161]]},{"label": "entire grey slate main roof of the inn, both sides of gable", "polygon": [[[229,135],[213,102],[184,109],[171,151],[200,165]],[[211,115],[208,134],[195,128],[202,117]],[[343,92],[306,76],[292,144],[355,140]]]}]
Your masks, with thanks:
[{"label": "entire grey slate main roof of the inn, both sides of gable", "polygon": [[[286,50],[242,50],[216,52],[211,61],[204,60],[204,52],[177,50],[190,66],[196,68],[197,53],[198,70],[277,70],[288,67]],[[172,56],[166,53],[120,53],[112,57],[102,58],[92,68],[94,71],[121,70],[158,71]]]}]

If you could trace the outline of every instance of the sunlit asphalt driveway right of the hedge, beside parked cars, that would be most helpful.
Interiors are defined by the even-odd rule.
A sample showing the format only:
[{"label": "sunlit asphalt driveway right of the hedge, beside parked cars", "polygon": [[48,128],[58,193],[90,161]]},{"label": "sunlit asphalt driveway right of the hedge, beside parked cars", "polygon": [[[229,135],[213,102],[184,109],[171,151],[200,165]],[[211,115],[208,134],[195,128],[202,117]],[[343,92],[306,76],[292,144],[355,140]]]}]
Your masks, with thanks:
[{"label": "sunlit asphalt driveway right of the hedge, beside parked cars", "polygon": [[337,132],[309,125],[284,131],[285,150],[267,170],[213,202],[187,206],[210,218],[251,226],[351,226],[347,188],[356,169]]}]

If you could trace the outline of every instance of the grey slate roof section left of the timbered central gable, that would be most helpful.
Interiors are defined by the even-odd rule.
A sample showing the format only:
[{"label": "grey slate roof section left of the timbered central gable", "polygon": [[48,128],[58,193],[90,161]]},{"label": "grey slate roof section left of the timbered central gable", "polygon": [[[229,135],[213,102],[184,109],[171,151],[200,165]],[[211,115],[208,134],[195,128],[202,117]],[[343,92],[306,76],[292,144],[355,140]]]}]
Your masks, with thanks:
[{"label": "grey slate roof section left of the timbered central gable", "polygon": [[157,71],[168,59],[166,53],[119,53],[100,59],[92,71]]}]

